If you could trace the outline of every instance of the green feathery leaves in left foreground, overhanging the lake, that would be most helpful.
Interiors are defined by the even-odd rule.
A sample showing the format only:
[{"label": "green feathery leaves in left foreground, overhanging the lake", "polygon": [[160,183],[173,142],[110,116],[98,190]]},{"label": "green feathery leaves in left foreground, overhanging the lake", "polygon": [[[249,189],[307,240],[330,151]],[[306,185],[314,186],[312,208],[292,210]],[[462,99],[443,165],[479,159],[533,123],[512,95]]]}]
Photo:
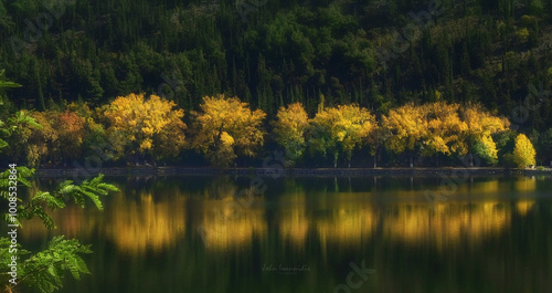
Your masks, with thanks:
[{"label": "green feathery leaves in left foreground, overhanging the lake", "polygon": [[[25,112],[19,112],[14,118],[7,122],[0,119],[0,133],[4,136],[29,126],[40,127],[34,118]],[[0,151],[8,146],[8,143],[0,138]],[[102,210],[99,197],[107,196],[109,191],[118,191],[117,187],[103,181],[103,175],[98,175],[79,185],[65,180],[54,191],[38,191],[28,202],[23,203],[20,198],[17,198],[13,190],[21,186],[31,187],[29,178],[33,175],[34,169],[15,167],[14,165],[0,174],[0,198],[7,201],[15,198],[18,202],[17,217],[9,213],[3,217],[8,224],[22,227],[22,220],[38,217],[46,228],[54,229],[55,223],[47,214],[46,208],[50,210],[62,209],[68,200],[74,200],[75,203],[84,208],[88,198],[97,209]],[[11,182],[17,182],[15,188]],[[10,232],[17,239],[17,228]],[[63,286],[65,271],[68,271],[76,280],[81,278],[81,274],[89,273],[81,255],[92,253],[91,247],[82,244],[76,239],[67,240],[63,236],[54,237],[45,249],[35,253],[25,250],[21,243],[12,243],[12,239],[11,236],[10,238],[0,238],[0,258],[4,260],[0,263],[0,285],[4,292],[19,292],[21,287],[29,287],[34,292],[51,293]],[[11,269],[13,263],[17,263],[14,271]]]}]

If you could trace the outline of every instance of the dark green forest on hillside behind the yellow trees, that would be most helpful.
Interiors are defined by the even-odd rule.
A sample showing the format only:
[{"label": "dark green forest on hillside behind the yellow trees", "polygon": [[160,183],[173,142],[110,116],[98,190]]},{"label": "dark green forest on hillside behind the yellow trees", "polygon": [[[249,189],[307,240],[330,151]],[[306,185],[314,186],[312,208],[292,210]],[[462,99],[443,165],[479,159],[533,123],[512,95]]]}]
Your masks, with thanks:
[{"label": "dark green forest on hillside behind the yellow trees", "polygon": [[[276,134],[269,122],[294,103],[311,118],[320,105],[353,104],[383,122],[405,105],[446,102],[508,118],[537,148],[537,164],[549,165],[551,21],[546,0],[1,0],[0,69],[22,85],[6,92],[1,112],[76,113],[84,102],[94,111],[147,93],[172,101],[185,121],[205,96],[225,94],[266,114],[263,126]],[[492,135],[499,153],[513,150],[516,135]],[[276,147],[267,138],[259,154]],[[209,160],[193,159],[192,148],[180,163]],[[380,164],[407,165],[407,154],[388,149],[372,151]],[[351,156],[372,164],[367,148],[339,165]],[[331,163],[315,155],[302,164]]]}]

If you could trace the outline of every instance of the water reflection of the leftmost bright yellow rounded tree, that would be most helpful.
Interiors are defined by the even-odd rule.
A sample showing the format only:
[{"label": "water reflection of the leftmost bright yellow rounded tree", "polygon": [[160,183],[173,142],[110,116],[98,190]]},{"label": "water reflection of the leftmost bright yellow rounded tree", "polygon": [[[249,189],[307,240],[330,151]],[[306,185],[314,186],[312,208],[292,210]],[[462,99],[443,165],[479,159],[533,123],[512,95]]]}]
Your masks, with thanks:
[{"label": "water reflection of the leftmost bright yellow rounded tree", "polygon": [[116,196],[110,212],[107,236],[120,250],[130,253],[153,251],[173,245],[185,231],[184,199],[172,197],[156,202],[151,193],[142,193],[140,201]]}]

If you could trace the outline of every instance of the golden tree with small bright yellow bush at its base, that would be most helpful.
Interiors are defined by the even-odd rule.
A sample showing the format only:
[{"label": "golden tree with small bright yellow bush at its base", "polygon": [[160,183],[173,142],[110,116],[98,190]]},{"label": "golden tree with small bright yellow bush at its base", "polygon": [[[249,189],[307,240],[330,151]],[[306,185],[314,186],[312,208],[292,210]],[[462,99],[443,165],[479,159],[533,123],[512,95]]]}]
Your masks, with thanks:
[{"label": "golden tree with small bright yellow bush at its base", "polygon": [[237,156],[255,156],[263,146],[263,111],[251,111],[247,103],[223,94],[203,97],[200,108],[193,113],[192,147],[211,164],[227,167]]}]

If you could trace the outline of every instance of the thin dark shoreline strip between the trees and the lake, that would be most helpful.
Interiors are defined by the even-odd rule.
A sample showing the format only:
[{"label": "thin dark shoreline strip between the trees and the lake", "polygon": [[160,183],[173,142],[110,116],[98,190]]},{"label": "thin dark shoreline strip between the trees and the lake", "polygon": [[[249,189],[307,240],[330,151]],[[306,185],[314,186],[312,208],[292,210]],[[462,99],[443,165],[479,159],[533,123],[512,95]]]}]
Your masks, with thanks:
[{"label": "thin dark shoreline strip between the trees and the lake", "polygon": [[43,168],[36,169],[38,177],[83,176],[104,174],[106,176],[181,176],[181,175],[234,175],[234,176],[439,176],[455,175],[552,175],[552,169],[507,169],[484,167],[440,167],[440,168],[185,168],[185,167],[113,167],[88,171],[78,168]]}]

